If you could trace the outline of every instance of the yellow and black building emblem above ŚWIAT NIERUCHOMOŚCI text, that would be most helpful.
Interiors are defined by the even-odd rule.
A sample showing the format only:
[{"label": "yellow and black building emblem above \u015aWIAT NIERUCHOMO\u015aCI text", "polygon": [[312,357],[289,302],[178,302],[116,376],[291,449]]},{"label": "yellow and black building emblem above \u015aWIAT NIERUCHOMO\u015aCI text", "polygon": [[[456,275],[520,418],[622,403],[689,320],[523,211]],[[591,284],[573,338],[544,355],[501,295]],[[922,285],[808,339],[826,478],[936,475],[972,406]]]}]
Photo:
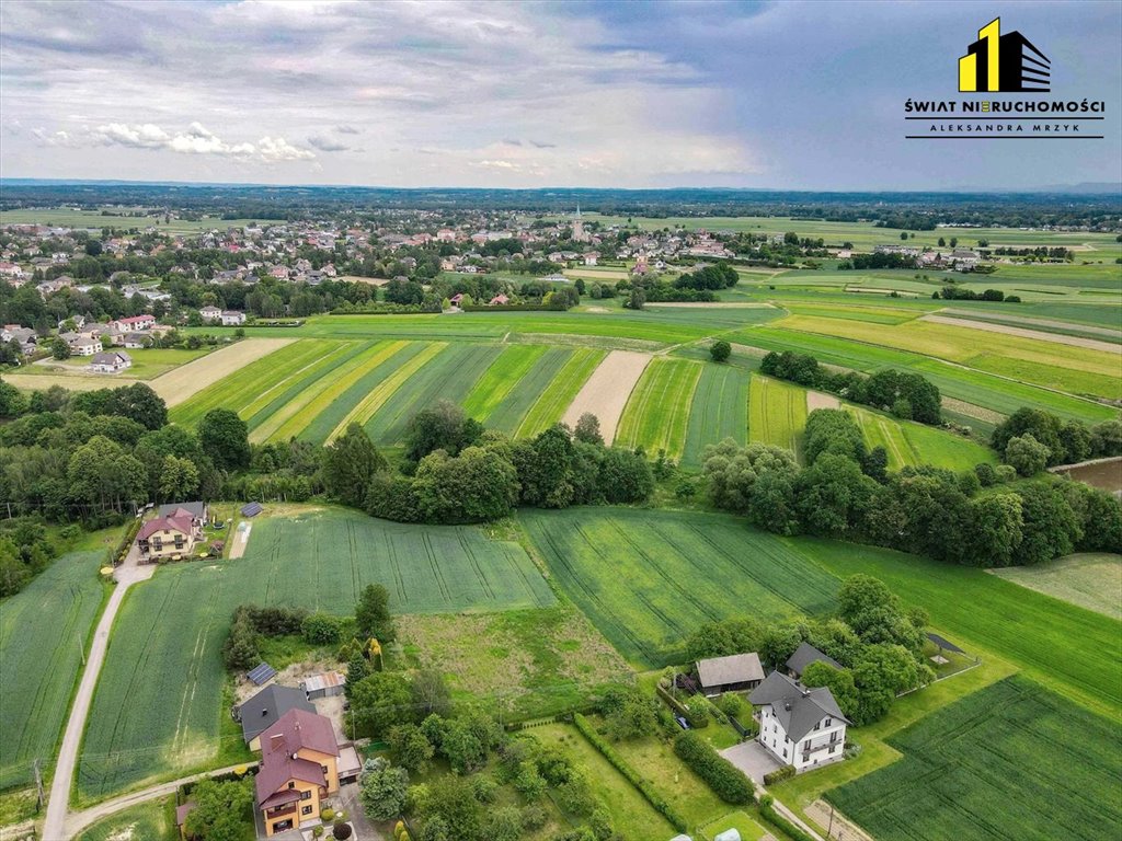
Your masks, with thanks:
[{"label": "yellow and black building emblem above \u015aWIAT NIERUCHOMO\u015aCI text", "polygon": [[964,92],[1024,93],[1051,90],[1048,56],[1019,31],[1001,34],[994,18],[958,59],[958,90]]}]

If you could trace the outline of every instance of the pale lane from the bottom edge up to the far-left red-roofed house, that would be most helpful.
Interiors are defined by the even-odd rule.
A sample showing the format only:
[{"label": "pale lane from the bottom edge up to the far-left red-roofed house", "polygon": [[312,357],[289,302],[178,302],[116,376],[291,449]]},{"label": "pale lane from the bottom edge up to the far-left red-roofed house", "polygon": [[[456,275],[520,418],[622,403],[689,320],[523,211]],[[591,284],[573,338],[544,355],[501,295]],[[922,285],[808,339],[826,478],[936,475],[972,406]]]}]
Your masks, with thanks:
[{"label": "pale lane from the bottom edge up to the far-left red-roofed house", "polygon": [[105,660],[105,649],[109,647],[109,631],[113,627],[117,611],[121,607],[125,593],[138,581],[146,581],[156,572],[155,565],[141,566],[135,556],[136,548],[129,552],[113,577],[117,586],[113,588],[105,612],[98,622],[98,629],[93,635],[93,645],[90,647],[90,656],[82,672],[82,682],[77,686],[77,694],[74,696],[74,705],[71,708],[70,721],[66,722],[66,732],[63,736],[63,745],[58,750],[58,761],[55,765],[55,776],[50,782],[50,795],[47,800],[47,816],[43,824],[44,841],[66,841],[72,838],[66,832],[66,813],[70,808],[70,792],[74,783],[74,765],[77,761],[77,750],[82,743],[82,733],[85,731],[85,719],[90,714],[90,702],[93,701],[93,690],[98,685],[98,675],[101,673],[101,665]]}]

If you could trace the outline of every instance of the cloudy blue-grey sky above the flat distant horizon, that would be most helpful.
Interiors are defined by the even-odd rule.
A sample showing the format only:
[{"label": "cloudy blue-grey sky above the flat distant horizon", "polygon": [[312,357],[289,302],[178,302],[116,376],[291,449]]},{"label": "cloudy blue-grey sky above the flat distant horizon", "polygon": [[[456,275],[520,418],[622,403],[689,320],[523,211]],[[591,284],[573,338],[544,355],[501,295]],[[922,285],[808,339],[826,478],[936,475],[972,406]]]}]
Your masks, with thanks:
[{"label": "cloudy blue-grey sky above the flat distant horizon", "polygon": [[[904,139],[999,15],[1106,139]],[[3,177],[1026,190],[1122,182],[1120,109],[1114,0],[0,3]]]}]

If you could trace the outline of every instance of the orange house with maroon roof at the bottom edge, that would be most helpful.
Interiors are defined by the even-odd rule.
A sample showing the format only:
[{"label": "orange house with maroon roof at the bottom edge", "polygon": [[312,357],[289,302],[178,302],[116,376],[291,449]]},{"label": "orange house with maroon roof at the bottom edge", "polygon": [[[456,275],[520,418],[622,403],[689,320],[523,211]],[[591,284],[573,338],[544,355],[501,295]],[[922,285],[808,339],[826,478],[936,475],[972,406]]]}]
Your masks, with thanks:
[{"label": "orange house with maroon roof at the bottom edge", "polygon": [[255,778],[267,838],[320,820],[324,797],[339,791],[339,746],[331,721],[289,710],[261,732]]}]

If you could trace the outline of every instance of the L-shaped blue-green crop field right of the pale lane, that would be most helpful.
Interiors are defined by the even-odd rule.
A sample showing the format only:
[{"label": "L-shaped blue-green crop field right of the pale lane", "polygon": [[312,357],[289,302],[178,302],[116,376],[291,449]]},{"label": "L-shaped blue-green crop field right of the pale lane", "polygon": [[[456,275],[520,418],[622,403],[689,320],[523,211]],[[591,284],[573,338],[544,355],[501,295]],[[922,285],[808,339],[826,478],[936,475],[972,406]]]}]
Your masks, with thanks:
[{"label": "L-shaped blue-green crop field right of the pale lane", "polygon": [[404,526],[339,509],[256,520],[242,558],[166,566],[126,599],[82,745],[79,798],[186,773],[236,747],[219,736],[228,714],[220,653],[238,604],[341,614],[369,583],[386,586],[395,613],[555,603],[521,546],[476,528]]}]

